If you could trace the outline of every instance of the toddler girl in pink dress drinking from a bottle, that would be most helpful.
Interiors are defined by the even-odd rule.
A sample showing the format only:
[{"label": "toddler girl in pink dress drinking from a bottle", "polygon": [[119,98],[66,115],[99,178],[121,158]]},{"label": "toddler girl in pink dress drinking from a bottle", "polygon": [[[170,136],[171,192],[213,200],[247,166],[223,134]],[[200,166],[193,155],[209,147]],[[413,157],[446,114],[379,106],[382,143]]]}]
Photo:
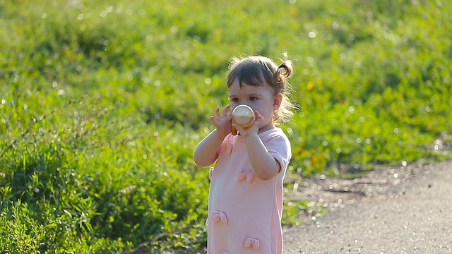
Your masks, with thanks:
[{"label": "toddler girl in pink dress drinking from a bottle", "polygon": [[[210,121],[216,126],[196,146],[194,161],[210,168],[207,251],[210,254],[280,254],[283,179],[292,156],[277,121],[292,116],[287,98],[292,62],[277,66],[264,56],[232,59],[227,74],[230,104]],[[245,104],[256,121],[232,123],[232,110]],[[237,135],[232,135],[232,126]]]}]

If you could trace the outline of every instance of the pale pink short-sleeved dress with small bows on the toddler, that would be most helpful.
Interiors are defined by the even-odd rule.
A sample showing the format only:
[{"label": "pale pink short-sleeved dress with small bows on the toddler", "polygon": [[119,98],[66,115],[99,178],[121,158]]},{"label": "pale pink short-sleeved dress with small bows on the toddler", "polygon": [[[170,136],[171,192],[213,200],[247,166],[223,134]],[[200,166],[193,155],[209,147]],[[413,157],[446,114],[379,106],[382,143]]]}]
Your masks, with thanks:
[{"label": "pale pink short-sleeved dress with small bows on the toddler", "polygon": [[292,156],[280,128],[258,134],[281,171],[268,181],[258,179],[239,135],[227,135],[210,169],[208,254],[280,254],[283,179]]}]

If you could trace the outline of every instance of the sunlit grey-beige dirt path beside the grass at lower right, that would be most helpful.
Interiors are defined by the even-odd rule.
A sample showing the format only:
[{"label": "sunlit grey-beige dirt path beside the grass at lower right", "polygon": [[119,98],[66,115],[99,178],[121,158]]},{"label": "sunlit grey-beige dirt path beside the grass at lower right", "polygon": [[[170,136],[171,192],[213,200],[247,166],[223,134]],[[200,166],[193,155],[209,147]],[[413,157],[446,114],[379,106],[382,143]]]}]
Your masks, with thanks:
[{"label": "sunlit grey-beige dirt path beside the grass at lower right", "polygon": [[285,229],[284,253],[452,253],[452,162],[359,179],[319,176],[289,195],[300,197],[328,204],[328,212]]}]

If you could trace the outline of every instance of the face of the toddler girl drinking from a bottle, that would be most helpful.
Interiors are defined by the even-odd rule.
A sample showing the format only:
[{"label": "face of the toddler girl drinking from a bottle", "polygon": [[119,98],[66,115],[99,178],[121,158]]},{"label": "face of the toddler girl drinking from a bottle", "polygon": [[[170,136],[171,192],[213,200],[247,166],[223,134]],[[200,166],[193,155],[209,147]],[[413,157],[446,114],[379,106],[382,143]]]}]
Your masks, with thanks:
[{"label": "face of the toddler girl drinking from a bottle", "polygon": [[229,87],[229,99],[231,109],[245,104],[261,114],[263,121],[258,126],[258,132],[261,133],[274,127],[273,112],[280,107],[282,95],[275,95],[275,90],[267,83],[259,86],[243,84],[240,87],[236,79]]}]

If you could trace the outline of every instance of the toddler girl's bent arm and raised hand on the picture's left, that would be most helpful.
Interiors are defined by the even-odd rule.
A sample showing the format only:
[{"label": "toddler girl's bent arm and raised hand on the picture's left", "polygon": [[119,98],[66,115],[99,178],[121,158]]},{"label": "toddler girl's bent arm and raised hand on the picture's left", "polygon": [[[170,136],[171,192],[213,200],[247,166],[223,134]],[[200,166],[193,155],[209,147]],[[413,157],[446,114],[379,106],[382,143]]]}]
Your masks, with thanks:
[{"label": "toddler girl's bent arm and raised hand on the picture's left", "polygon": [[196,146],[194,161],[198,166],[207,167],[213,164],[217,159],[217,152],[222,141],[225,139],[226,135],[231,132],[232,117],[228,114],[230,107],[230,105],[227,105],[222,110],[222,116],[220,116],[220,107],[217,107],[215,110],[216,119],[213,116],[210,116],[210,121],[212,121],[217,128]]}]

